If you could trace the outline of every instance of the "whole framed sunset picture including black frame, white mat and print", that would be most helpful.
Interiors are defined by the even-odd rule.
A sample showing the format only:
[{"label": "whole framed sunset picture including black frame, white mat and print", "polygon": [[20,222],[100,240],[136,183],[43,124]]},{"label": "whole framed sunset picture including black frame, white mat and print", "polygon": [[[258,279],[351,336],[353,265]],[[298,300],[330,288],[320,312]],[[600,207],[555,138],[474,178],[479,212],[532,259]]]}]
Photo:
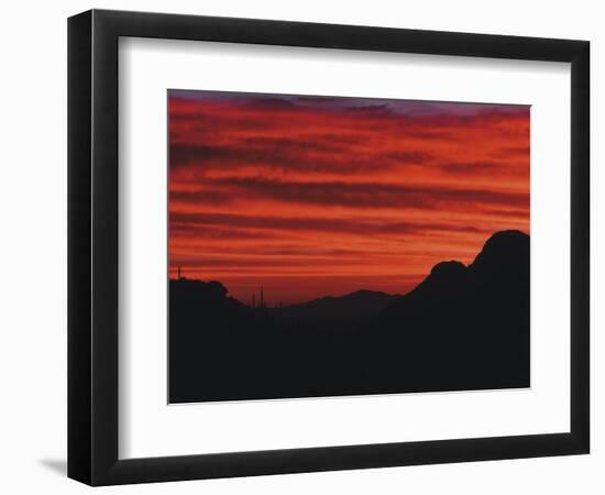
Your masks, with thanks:
[{"label": "whole framed sunset picture including black frame, white mat and print", "polygon": [[68,23],[68,475],[587,453],[588,42]]}]

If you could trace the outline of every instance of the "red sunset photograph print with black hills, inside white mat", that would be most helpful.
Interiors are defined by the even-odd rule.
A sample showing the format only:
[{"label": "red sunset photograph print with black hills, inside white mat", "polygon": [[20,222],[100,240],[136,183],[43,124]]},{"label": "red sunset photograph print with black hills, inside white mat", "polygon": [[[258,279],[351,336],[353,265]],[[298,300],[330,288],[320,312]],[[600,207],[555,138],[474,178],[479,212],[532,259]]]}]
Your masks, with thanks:
[{"label": "red sunset photograph print with black hills, inside white mat", "polygon": [[530,107],[170,89],[168,400],[530,386]]}]

